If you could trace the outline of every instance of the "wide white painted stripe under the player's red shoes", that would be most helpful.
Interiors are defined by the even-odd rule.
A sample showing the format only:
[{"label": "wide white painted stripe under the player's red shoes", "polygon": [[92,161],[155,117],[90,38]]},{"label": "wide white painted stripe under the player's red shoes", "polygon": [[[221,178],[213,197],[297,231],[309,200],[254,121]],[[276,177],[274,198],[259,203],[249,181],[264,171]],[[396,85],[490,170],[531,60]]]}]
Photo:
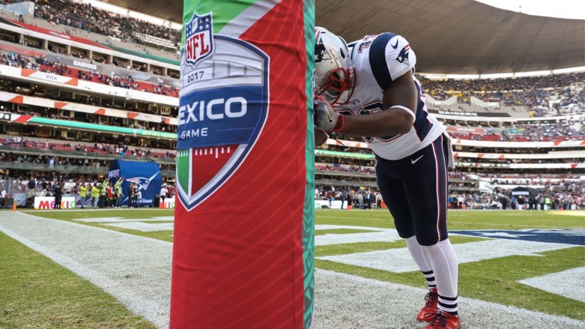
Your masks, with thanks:
[{"label": "wide white painted stripe under the player's red shoes", "polygon": [[[415,316],[428,290],[315,270],[316,328],[424,328]],[[459,297],[463,328],[584,328],[585,321]]]}]

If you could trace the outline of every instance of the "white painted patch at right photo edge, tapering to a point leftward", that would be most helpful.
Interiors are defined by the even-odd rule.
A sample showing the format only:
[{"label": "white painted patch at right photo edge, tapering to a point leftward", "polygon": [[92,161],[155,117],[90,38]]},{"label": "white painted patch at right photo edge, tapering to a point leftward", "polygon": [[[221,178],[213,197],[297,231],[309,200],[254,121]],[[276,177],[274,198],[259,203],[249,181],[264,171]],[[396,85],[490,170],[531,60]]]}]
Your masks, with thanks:
[{"label": "white painted patch at right photo edge, tapering to a point leftward", "polygon": [[531,277],[518,282],[585,303],[585,267]]}]

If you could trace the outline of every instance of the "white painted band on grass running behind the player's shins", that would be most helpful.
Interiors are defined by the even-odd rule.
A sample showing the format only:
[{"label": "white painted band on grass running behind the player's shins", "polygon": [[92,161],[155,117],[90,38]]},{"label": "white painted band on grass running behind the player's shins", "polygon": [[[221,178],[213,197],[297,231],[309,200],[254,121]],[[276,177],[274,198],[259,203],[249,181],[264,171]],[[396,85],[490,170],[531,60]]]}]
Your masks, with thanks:
[{"label": "white painted band on grass running behind the player's shins", "polygon": [[[315,245],[317,245],[316,239]],[[453,244],[453,248],[455,248],[459,263],[479,262],[486,259],[514,255],[541,256],[538,255],[538,252],[573,248],[575,246],[576,245],[570,244],[552,244],[548,242],[512,239],[493,239],[478,242],[467,242],[463,244]],[[404,273],[418,270],[418,266],[412,260],[412,257],[407,248],[394,248],[369,252],[349,253],[345,255],[323,256],[317,257],[316,259],[386,270],[388,272],[394,273]]]}]

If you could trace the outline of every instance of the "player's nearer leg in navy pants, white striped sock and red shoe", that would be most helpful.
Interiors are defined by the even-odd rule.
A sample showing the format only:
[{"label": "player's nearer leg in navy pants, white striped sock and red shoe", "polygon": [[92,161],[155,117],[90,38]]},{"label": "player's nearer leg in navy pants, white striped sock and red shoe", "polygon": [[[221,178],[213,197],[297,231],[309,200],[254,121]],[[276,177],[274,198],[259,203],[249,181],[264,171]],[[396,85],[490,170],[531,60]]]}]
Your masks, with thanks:
[{"label": "player's nearer leg in navy pants, white striped sock and red shoe", "polygon": [[[431,262],[439,293],[438,309],[447,328],[459,326],[457,315],[458,265],[447,231],[447,150],[443,136],[421,151],[423,157],[409,171],[404,190],[411,206],[417,241]],[[452,320],[452,321],[451,321]]]}]

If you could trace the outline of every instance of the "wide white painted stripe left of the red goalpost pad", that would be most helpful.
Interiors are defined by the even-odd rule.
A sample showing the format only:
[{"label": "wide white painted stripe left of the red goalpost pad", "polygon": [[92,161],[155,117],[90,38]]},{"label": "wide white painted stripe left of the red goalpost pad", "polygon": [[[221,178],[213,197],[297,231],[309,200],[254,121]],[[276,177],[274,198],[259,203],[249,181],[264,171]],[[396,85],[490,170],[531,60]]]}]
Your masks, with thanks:
[{"label": "wide white painted stripe left of the red goalpost pad", "polygon": [[0,231],[168,328],[171,242],[23,213],[0,214]]}]

